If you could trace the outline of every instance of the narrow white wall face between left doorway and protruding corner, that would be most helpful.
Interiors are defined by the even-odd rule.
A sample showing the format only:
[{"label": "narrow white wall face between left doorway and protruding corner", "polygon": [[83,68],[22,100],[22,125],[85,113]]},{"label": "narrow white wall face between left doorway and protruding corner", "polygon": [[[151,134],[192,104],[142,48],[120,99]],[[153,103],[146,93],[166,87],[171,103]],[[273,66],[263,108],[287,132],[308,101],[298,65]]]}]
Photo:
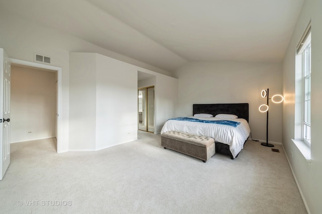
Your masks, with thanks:
[{"label": "narrow white wall face between left doorway and protruding corner", "polygon": [[96,54],[69,54],[69,150],[96,148]]}]

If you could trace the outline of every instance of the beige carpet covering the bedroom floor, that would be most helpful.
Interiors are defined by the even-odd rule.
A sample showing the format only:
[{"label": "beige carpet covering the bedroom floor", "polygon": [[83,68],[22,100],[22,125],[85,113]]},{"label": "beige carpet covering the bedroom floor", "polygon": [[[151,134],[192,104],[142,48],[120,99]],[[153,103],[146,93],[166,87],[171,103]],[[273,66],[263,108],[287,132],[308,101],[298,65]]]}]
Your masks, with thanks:
[{"label": "beige carpet covering the bedroom floor", "polygon": [[1,213],[306,213],[281,146],[248,141],[206,163],[160,135],[97,152],[55,153],[52,139],[11,145]]}]

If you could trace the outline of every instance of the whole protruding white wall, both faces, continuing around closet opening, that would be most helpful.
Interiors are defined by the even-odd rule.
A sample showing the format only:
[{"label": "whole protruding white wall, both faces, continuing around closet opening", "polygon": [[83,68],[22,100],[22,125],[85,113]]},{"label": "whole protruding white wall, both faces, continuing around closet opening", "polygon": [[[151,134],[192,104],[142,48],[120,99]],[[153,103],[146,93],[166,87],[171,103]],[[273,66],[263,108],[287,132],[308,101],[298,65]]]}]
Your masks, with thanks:
[{"label": "whole protruding white wall, both faces, continuing around closet opening", "polygon": [[174,117],[177,79],[95,53],[70,53],[69,59],[69,150],[99,150],[137,139],[139,70],[155,76],[156,132]]}]

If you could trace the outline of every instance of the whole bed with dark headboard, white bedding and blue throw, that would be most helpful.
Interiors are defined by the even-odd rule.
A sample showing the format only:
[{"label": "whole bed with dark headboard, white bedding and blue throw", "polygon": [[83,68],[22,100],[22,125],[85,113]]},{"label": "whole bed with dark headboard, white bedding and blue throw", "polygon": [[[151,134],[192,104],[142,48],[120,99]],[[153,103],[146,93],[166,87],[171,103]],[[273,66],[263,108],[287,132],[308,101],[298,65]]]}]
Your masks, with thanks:
[{"label": "whole bed with dark headboard, white bedding and blue throw", "polygon": [[[211,114],[214,117],[187,117],[185,120],[171,118],[163,126],[161,134],[168,131],[179,131],[215,139],[216,153],[229,155],[231,159],[238,156],[250,135],[249,104],[193,104],[193,115]],[[218,114],[226,114],[228,118],[215,118]],[[229,115],[238,116],[237,119],[229,118]],[[197,115],[196,115],[197,116]],[[199,115],[200,116],[200,115]],[[187,121],[188,120],[188,121]],[[197,120],[197,122],[189,121]],[[202,120],[198,122],[198,120]],[[213,121],[225,120],[237,123],[236,127],[217,124]]]}]

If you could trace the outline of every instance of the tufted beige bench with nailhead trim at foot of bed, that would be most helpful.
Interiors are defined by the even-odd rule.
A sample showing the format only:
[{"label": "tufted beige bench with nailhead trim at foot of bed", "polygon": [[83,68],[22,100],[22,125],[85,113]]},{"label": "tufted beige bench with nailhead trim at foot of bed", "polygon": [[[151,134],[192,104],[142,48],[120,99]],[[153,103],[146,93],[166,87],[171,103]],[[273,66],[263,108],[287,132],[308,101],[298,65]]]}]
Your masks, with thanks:
[{"label": "tufted beige bench with nailhead trim at foot of bed", "polygon": [[161,135],[161,145],[206,162],[215,154],[215,140],[211,137],[169,131]]}]

